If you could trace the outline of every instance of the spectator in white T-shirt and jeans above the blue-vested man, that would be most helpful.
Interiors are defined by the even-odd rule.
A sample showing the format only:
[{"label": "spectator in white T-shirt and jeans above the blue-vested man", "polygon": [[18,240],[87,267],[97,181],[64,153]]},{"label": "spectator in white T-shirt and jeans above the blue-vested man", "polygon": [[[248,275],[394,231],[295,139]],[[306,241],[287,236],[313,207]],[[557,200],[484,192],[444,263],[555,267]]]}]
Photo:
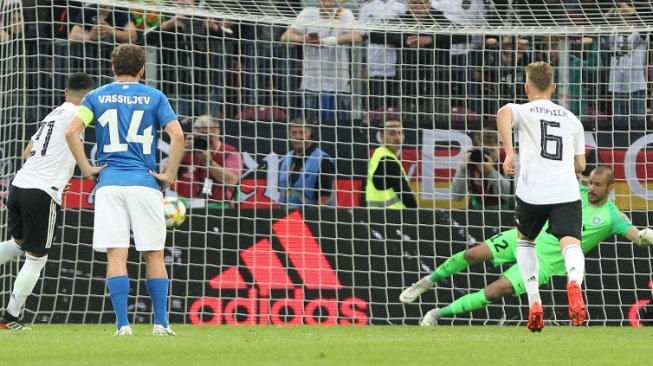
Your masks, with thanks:
[{"label": "spectator in white T-shirt and jeans above the blue-vested man", "polygon": [[[347,24],[356,20],[351,10],[336,8],[336,3],[319,0],[318,7],[304,8],[295,23],[281,35],[281,41],[304,46],[301,86],[304,117],[350,125],[350,61],[348,49],[344,47],[359,42],[362,37],[359,32],[347,29]],[[321,21],[332,21],[333,26],[308,25]]]}]

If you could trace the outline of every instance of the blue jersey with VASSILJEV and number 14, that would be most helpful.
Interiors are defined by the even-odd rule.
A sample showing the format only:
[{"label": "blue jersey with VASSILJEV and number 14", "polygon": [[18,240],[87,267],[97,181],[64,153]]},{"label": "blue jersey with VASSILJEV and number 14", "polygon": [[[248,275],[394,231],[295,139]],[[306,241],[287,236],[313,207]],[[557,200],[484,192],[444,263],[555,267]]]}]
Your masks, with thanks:
[{"label": "blue jersey with VASSILJEV and number 14", "polygon": [[87,116],[83,118],[86,125],[97,121],[98,165],[107,164],[96,187],[146,186],[158,190],[159,183],[149,171],[156,171],[159,130],[177,119],[168,98],[138,82],[114,82],[89,92],[80,109],[87,109],[82,111]]}]

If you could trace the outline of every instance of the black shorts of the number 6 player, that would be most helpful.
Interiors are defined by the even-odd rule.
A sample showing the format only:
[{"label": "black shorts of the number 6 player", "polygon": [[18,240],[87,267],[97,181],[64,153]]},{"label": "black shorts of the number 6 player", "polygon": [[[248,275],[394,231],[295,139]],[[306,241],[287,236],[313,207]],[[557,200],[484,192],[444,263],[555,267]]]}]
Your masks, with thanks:
[{"label": "black shorts of the number 6 player", "polygon": [[515,221],[517,230],[528,239],[534,240],[549,221],[547,232],[560,239],[571,236],[581,239],[583,229],[583,211],[581,200],[534,205],[515,197]]}]

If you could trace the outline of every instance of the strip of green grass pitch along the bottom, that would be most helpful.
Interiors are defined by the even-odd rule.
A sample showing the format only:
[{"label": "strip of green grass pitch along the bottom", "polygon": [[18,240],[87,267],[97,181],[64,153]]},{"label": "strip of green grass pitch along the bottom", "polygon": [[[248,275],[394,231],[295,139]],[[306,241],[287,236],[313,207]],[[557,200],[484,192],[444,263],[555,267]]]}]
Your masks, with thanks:
[{"label": "strip of green grass pitch along the bottom", "polygon": [[0,331],[2,365],[646,365],[651,328],[192,326],[114,337],[113,325]]}]

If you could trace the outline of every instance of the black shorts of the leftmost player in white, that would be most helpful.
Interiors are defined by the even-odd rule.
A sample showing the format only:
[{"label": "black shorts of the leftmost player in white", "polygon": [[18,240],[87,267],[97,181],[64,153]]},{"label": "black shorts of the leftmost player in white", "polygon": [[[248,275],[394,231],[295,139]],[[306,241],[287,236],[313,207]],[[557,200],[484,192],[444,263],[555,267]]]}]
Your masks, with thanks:
[{"label": "black shorts of the leftmost player in white", "polygon": [[9,187],[7,230],[24,251],[45,255],[59,229],[59,206],[40,189]]}]

